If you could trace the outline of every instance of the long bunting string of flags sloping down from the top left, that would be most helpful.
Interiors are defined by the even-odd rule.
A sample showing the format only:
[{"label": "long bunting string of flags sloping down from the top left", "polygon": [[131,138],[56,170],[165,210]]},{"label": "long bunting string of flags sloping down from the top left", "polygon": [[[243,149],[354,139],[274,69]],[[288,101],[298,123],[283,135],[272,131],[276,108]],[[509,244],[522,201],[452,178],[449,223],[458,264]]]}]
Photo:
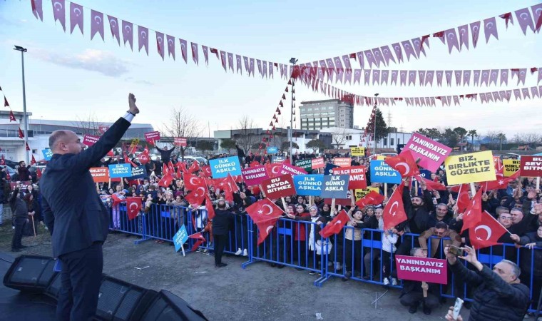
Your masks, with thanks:
[{"label": "long bunting string of flags sloping down from the top left", "polygon": [[[156,44],[156,52],[162,58],[165,59],[165,44],[167,42],[167,49],[168,49],[168,57],[172,57],[173,60],[175,60],[175,46],[177,46],[175,38],[179,41],[180,46],[180,53],[181,57],[185,61],[185,63],[188,63],[188,45],[190,44],[190,52],[192,54],[192,60],[195,63],[195,65],[199,66],[199,55],[200,50],[203,52],[203,57],[205,58],[205,64],[209,64],[209,51],[211,54],[215,54],[217,59],[220,61],[220,66],[223,67],[225,72],[231,71],[232,73],[240,73],[242,75],[242,66],[245,66],[245,74],[247,76],[255,76],[254,72],[254,61],[255,58],[250,58],[247,56],[242,56],[240,54],[232,54],[230,52],[226,52],[220,49],[215,49],[210,46],[204,46],[197,44],[193,41],[188,41],[185,39],[181,39],[180,37],[170,36],[168,34],[164,34],[163,32],[156,31],[154,29],[150,29],[144,26],[140,26],[138,24],[133,24],[131,22],[128,22],[126,20],[118,19],[116,16],[110,16],[108,14],[104,15],[100,11],[96,11],[94,9],[88,8],[86,6],[81,6],[80,4],[76,4],[71,1],[65,1],[65,0],[51,0],[52,4],[52,10],[53,10],[53,18],[56,23],[58,21],[64,32],[66,32],[66,2],[70,4],[69,6],[69,18],[70,18],[70,33],[73,34],[73,30],[78,27],[78,29],[81,31],[81,34],[84,36],[84,16],[86,12],[90,12],[90,21],[91,21],[91,41],[96,36],[96,34],[99,34],[101,36],[101,39],[105,41],[105,21],[108,21],[109,29],[111,29],[111,37],[115,39],[118,43],[118,45],[121,45],[121,30],[122,30],[122,38],[123,43],[126,46],[126,43],[130,45],[131,50],[133,51],[133,38],[134,34],[136,34],[138,39],[138,51],[141,51],[141,49],[145,49],[145,53],[149,54],[149,38],[150,38],[150,32],[154,31],[155,33],[155,44]],[[36,19],[39,19],[41,21],[44,21],[44,13],[43,13],[43,3],[42,0],[30,0],[31,3],[31,10],[34,16],[36,16]],[[121,24],[119,24],[119,20],[121,21]],[[137,27],[137,28],[136,28]],[[121,30],[120,30],[121,29]],[[137,30],[136,30],[137,29]],[[165,35],[165,39],[164,39]],[[219,56],[220,52],[220,56]],[[234,56],[235,56],[235,63],[234,63]],[[241,58],[242,57],[242,58]],[[257,66],[258,66],[258,73],[260,73],[260,76],[262,78],[274,78],[275,73],[274,71],[280,71],[280,77],[288,79],[289,75],[287,75],[287,64],[283,63],[276,63],[272,61],[265,61],[262,59],[256,59]],[[235,66],[234,66],[235,65]]]}]

